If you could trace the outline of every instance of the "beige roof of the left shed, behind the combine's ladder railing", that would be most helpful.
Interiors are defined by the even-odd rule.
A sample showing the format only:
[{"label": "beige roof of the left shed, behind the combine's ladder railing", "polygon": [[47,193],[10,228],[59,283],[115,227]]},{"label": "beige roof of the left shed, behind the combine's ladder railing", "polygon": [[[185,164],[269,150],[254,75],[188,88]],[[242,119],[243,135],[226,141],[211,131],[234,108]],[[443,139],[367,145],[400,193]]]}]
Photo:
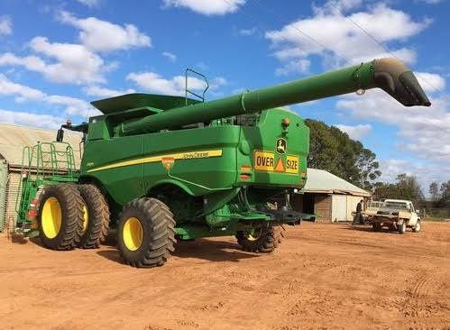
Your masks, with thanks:
[{"label": "beige roof of the left shed, behind the combine's ladder railing", "polygon": [[[35,127],[25,127],[14,124],[0,124],[0,156],[10,166],[22,165],[22,152],[24,146],[32,147],[37,142],[55,141],[56,130],[44,130]],[[64,142],[69,142],[74,151],[75,165],[79,167],[79,142],[80,133],[65,131]]]}]

